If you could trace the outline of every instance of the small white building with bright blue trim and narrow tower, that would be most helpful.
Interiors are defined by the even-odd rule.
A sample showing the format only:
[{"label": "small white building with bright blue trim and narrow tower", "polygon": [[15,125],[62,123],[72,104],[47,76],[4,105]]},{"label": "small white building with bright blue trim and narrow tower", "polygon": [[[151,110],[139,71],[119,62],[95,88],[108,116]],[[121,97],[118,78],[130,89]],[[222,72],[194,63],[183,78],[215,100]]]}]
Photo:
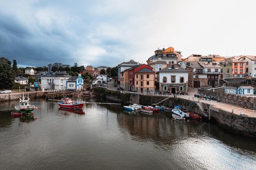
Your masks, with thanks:
[{"label": "small white building with bright blue trim and narrow tower", "polygon": [[81,77],[81,73],[78,76],[71,76],[66,81],[66,89],[67,90],[83,90],[83,79]]}]

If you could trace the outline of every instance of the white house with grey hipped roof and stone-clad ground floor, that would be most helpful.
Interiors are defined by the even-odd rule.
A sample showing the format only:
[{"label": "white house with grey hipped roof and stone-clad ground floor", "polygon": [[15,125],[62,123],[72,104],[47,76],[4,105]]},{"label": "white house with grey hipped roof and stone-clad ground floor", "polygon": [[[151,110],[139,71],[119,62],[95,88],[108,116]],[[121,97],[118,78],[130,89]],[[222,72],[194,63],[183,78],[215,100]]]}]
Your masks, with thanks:
[{"label": "white house with grey hipped roof and stone-clad ground floor", "polygon": [[177,64],[171,64],[157,72],[159,91],[175,93],[176,91],[187,92],[189,71]]}]

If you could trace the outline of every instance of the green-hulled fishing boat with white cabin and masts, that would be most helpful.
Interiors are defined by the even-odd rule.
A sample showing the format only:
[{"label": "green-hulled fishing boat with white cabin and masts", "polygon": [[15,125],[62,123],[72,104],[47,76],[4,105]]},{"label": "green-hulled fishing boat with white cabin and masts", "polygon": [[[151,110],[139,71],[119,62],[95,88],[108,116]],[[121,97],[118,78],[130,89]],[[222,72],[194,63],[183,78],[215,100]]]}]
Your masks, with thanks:
[{"label": "green-hulled fishing boat with white cabin and masts", "polygon": [[22,113],[22,115],[32,114],[33,110],[37,108],[35,105],[31,105],[29,100],[30,100],[29,96],[27,96],[27,99],[25,99],[24,93],[23,93],[23,97],[22,99],[20,99],[19,105],[14,106],[15,111],[17,113]]}]

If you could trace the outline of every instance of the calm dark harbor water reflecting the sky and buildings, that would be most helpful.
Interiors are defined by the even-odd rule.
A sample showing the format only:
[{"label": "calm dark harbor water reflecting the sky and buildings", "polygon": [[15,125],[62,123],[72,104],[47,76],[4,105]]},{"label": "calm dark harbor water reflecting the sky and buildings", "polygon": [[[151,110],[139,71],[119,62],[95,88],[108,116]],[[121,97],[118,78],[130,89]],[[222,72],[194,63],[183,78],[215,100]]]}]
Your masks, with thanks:
[{"label": "calm dark harbor water reflecting the sky and buildings", "polygon": [[[76,97],[73,100],[78,100]],[[0,102],[1,170],[256,170],[256,140],[168,112],[127,113],[83,97],[83,110],[31,99],[34,115]]]}]

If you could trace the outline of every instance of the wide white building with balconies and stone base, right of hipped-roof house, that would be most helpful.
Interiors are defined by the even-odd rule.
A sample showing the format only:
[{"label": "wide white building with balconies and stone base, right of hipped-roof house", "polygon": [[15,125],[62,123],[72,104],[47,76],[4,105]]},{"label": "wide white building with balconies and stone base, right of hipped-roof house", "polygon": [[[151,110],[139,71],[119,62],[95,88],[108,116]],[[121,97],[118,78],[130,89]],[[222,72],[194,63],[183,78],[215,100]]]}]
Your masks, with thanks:
[{"label": "wide white building with balconies and stone base, right of hipped-roof house", "polygon": [[189,71],[189,87],[216,87],[220,82],[221,66],[217,62],[186,62],[181,67]]}]

